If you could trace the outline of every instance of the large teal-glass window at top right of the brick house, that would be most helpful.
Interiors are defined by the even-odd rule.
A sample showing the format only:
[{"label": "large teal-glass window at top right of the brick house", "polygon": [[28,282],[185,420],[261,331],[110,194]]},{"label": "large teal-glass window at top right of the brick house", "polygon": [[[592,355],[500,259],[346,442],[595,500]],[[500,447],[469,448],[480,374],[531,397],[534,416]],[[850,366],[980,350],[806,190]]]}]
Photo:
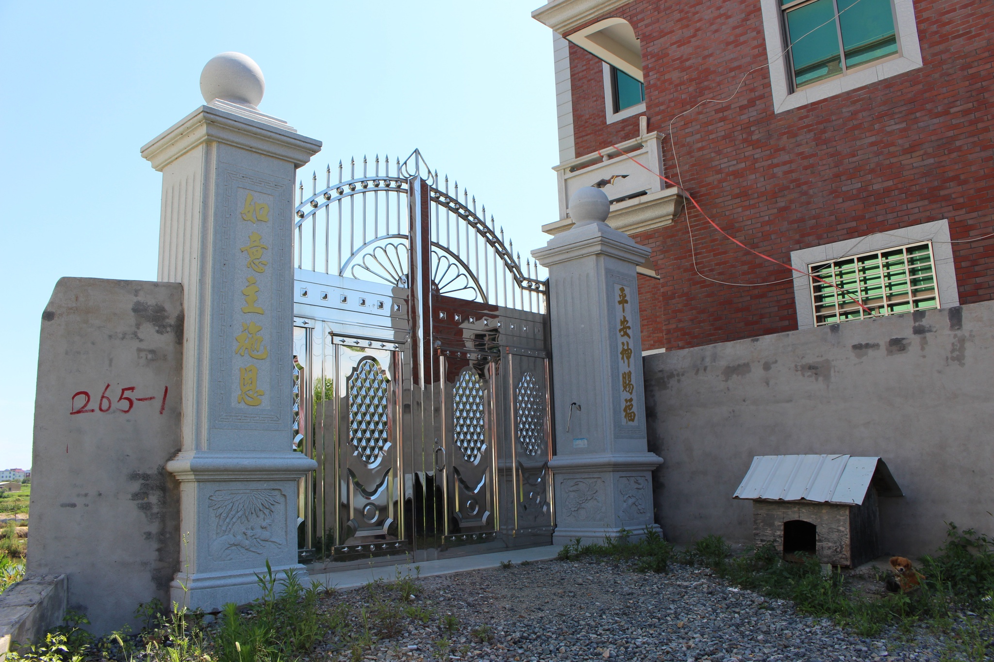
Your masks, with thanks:
[{"label": "large teal-glass window at top right of the brick house", "polygon": [[891,0],[780,0],[794,87],[898,53]]}]

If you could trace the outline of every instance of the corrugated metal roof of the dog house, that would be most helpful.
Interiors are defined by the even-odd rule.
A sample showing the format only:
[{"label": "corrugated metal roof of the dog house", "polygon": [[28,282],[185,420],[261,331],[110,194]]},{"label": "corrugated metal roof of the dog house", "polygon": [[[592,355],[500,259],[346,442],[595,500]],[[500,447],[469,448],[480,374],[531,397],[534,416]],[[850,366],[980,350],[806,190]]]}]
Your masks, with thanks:
[{"label": "corrugated metal roof of the dog house", "polygon": [[859,505],[874,476],[878,494],[904,496],[880,458],[756,456],[733,498]]}]

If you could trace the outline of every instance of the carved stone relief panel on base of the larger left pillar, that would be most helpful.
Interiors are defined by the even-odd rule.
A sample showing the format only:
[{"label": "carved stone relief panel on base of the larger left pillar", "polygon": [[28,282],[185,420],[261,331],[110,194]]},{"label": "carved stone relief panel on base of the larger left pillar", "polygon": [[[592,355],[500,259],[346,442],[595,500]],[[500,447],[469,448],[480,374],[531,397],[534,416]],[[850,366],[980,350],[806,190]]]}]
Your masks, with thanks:
[{"label": "carved stone relief panel on base of the larger left pillar", "polygon": [[215,561],[265,557],[286,545],[286,495],[280,489],[218,489],[208,498]]}]

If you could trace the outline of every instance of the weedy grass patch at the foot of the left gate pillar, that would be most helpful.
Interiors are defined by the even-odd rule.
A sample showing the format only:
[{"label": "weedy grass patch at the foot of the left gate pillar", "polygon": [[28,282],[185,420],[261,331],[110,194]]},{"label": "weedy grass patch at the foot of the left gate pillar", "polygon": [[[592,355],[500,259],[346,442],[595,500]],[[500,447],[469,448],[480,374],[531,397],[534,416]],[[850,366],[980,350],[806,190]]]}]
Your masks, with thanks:
[{"label": "weedy grass patch at the foot of the left gate pillar", "polygon": [[[332,590],[312,583],[304,587],[290,572],[277,575],[268,563],[257,581],[262,597],[245,608],[226,604],[218,618],[173,604],[166,612],[158,600],[139,605],[135,617],[141,631],[128,628],[95,638],[82,626],[88,620],[69,613],[67,624],[34,646],[8,654],[10,662],[291,662],[313,654],[327,644],[336,658],[346,653],[361,662],[377,641],[400,635],[409,624],[427,623],[431,609],[412,603],[421,592],[411,577],[398,573],[395,582],[374,582],[365,589],[368,599],[356,608],[320,600]],[[451,615],[439,621],[448,636],[458,630]],[[446,648],[447,649],[447,648]]]}]

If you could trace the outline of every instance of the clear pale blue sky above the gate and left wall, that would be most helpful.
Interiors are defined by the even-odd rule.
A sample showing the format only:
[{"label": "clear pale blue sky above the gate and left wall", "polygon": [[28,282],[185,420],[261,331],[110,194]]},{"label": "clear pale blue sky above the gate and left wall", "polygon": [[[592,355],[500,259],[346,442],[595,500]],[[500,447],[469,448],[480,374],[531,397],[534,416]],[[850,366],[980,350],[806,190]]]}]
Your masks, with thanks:
[{"label": "clear pale blue sky above the gate and left wall", "polygon": [[0,468],[31,464],[56,281],[155,279],[161,176],[138,150],[203,103],[218,53],[254,59],[259,109],[324,141],[306,177],[417,147],[523,255],[544,244],[559,159],[542,3],[0,0]]}]

